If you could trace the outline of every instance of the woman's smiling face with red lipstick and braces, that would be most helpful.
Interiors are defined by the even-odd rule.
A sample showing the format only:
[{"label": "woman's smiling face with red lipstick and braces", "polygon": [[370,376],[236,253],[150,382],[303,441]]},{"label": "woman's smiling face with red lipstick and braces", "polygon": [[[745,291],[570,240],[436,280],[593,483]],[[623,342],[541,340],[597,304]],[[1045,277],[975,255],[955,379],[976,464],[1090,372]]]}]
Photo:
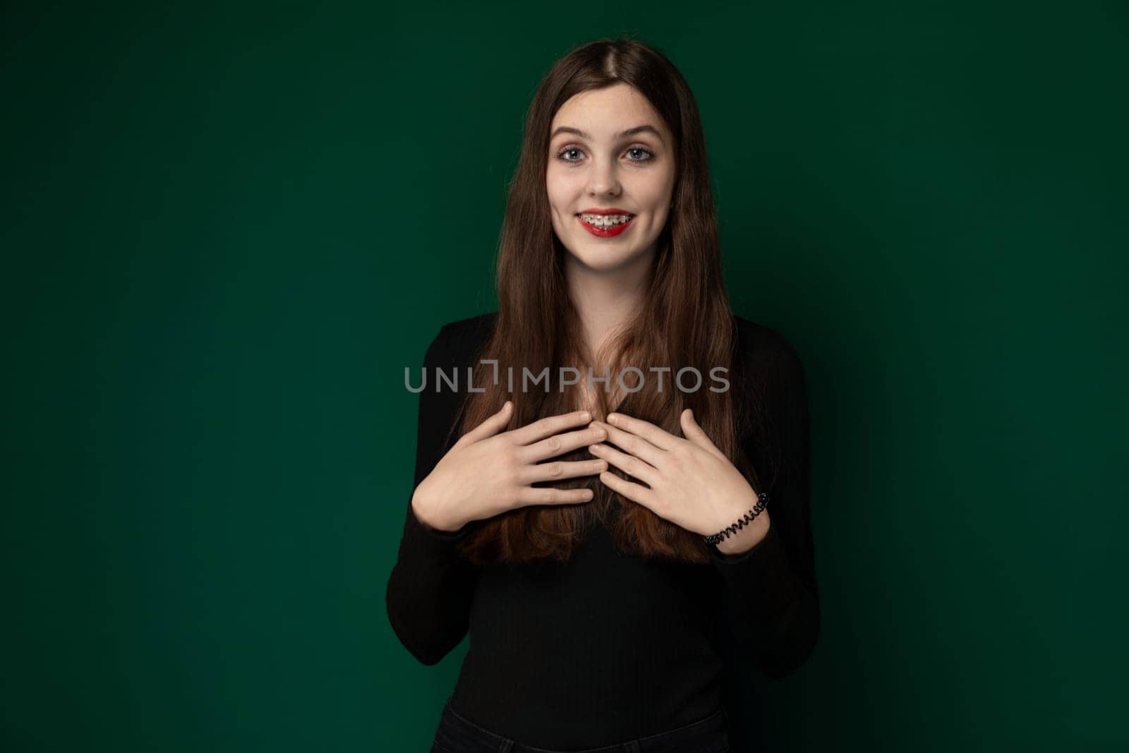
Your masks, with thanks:
[{"label": "woman's smiling face with red lipstick and braces", "polygon": [[[581,91],[561,105],[549,132],[553,230],[572,259],[615,271],[653,255],[675,164],[674,137],[647,98],[627,84]],[[628,221],[616,225],[623,214]]]}]

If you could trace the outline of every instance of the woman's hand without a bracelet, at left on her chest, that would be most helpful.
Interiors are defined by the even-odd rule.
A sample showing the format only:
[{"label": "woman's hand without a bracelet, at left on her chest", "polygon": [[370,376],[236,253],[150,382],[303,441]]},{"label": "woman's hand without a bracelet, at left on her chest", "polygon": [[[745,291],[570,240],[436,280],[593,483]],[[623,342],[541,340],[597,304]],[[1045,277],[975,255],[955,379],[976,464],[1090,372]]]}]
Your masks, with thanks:
[{"label": "woman's hand without a bracelet, at left on her chest", "polygon": [[419,483],[412,494],[412,509],[420,523],[435,531],[452,533],[471,520],[518,507],[592,500],[589,489],[532,485],[537,481],[595,475],[607,470],[607,462],[603,459],[540,462],[606,439],[602,428],[575,428],[592,421],[589,412],[550,415],[511,431],[501,431],[509,423],[513,411],[514,403],[507,400],[501,410],[460,437]]}]

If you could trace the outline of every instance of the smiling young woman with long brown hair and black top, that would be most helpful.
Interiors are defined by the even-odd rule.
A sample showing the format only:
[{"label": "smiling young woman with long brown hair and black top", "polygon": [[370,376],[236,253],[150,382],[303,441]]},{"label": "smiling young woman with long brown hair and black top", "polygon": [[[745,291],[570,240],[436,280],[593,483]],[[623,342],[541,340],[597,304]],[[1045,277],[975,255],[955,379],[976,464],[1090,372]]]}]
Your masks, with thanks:
[{"label": "smiling young woman with long brown hair and black top", "polygon": [[546,73],[497,286],[427,349],[387,585],[423,664],[470,631],[432,750],[727,751],[723,615],[773,678],[819,633],[807,402],[789,343],[729,310],[697,105],[658,51],[599,40]]}]

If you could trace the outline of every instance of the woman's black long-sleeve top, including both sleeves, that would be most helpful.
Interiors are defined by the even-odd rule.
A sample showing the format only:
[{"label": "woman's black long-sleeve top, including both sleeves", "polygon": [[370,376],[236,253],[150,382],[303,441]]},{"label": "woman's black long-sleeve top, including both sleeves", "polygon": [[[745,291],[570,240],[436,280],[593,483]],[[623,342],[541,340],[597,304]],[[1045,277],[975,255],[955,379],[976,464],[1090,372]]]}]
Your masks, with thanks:
[{"label": "woman's black long-sleeve top, including both sleeves", "polygon": [[[425,369],[450,374],[458,367],[466,374],[478,366],[478,349],[496,318],[491,313],[444,325],[427,349]],[[552,748],[613,745],[697,721],[721,704],[715,641],[726,596],[737,639],[768,677],[789,674],[812,653],[820,606],[804,371],[778,332],[736,322],[744,378],[758,380],[769,432],[750,431],[742,446],[754,467],[759,447],[777,448],[780,458],[779,471],[758,488],[770,496],[768,534],[747,552],[727,555],[710,548],[708,563],[645,562],[618,550],[597,523],[568,562],[480,567],[456,550],[469,527],[428,528],[409,496],[387,583],[388,620],[426,665],[470,631],[449,699],[461,716]],[[420,393],[415,485],[457,440],[458,431],[444,443],[465,397],[449,386]]]}]

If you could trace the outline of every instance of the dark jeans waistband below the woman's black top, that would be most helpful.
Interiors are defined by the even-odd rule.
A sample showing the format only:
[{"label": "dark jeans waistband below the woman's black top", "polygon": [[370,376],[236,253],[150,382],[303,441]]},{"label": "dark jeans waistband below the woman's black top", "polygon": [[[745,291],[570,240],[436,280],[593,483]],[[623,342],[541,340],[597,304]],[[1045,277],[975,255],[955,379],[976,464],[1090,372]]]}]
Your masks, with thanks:
[{"label": "dark jeans waistband below the woman's black top", "polygon": [[[729,717],[718,709],[704,719],[604,747],[586,747],[571,753],[728,753]],[[464,719],[450,708],[443,709],[431,753],[569,753],[522,745]]]}]

